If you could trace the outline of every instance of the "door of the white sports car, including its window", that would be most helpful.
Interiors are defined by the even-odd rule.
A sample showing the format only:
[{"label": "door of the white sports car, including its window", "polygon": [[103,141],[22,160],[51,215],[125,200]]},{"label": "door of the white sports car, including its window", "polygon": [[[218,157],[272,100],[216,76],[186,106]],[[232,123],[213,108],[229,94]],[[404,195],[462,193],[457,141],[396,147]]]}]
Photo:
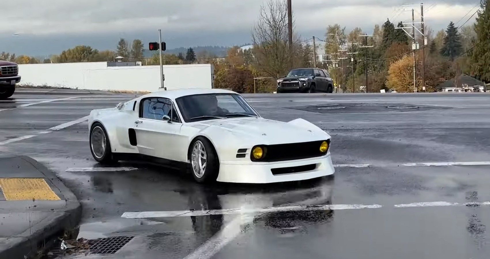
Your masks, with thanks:
[{"label": "door of the white sports car, including its window", "polygon": [[[175,104],[161,97],[148,97],[140,103],[139,119],[134,125],[139,153],[179,161],[179,152],[175,150],[187,147],[182,147],[182,122]],[[164,116],[168,116],[167,120]]]}]

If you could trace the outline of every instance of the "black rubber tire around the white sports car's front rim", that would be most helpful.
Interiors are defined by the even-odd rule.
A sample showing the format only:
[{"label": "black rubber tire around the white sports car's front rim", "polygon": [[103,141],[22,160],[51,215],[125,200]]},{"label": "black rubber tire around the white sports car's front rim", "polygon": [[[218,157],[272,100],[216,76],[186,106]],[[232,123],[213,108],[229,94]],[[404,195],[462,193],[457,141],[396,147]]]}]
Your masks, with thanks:
[{"label": "black rubber tire around the white sports car's front rim", "polygon": [[[195,145],[198,142],[202,144],[202,146],[204,147],[204,152],[206,153],[206,166],[202,174],[200,172],[196,172],[199,166],[196,164],[195,167],[194,165],[197,162],[193,160]],[[191,142],[191,145],[189,146],[189,161],[191,162],[189,166],[190,173],[197,183],[215,182],[218,178],[218,173],[220,171],[220,162],[218,160],[218,155],[216,154],[216,149],[208,139],[204,137],[197,137],[196,139],[194,139],[194,141]]]}]

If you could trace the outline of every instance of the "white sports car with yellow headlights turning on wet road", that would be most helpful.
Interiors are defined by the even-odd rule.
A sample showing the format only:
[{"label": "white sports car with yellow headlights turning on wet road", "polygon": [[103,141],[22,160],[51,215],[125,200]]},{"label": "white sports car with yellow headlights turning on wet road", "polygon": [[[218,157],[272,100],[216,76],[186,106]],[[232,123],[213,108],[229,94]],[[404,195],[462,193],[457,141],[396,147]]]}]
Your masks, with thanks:
[{"label": "white sports car with yellow headlights turning on wet road", "polygon": [[145,159],[183,165],[197,182],[275,183],[335,171],[327,133],[301,118],[262,118],[227,90],[143,95],[93,110],[89,129],[90,150],[100,163]]}]

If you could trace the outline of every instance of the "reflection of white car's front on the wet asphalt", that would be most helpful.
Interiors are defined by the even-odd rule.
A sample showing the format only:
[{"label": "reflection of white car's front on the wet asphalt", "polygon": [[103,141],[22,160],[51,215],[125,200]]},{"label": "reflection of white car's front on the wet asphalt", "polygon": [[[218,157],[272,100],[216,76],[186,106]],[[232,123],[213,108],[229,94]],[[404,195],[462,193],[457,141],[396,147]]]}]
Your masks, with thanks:
[{"label": "reflection of white car's front on the wet asphalt", "polygon": [[[301,231],[298,227],[307,222],[330,222],[332,210],[309,211],[306,206],[332,204],[333,177],[328,176],[301,182],[278,183],[272,185],[190,185],[180,191],[188,195],[188,205],[191,211],[248,209],[249,223],[265,228],[279,229],[281,234]],[[284,206],[305,206],[305,210],[281,211]],[[271,208],[274,212],[255,212],[254,209]],[[279,207],[279,208],[278,208]],[[191,216],[192,227],[196,232],[197,242],[203,242],[216,235],[223,225],[238,217],[244,217],[240,212],[235,214],[213,213],[210,215]],[[246,222],[246,220],[244,221]],[[250,226],[243,224],[246,230]]]}]

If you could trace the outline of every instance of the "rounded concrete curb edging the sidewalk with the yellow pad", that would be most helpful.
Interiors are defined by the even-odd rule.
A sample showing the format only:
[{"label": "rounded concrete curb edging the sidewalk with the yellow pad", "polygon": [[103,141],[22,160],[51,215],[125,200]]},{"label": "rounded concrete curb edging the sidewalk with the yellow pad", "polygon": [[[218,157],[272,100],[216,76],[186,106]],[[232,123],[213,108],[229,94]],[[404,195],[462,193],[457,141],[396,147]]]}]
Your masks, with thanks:
[{"label": "rounded concrete curb edging the sidewalk with the yellow pad", "polygon": [[[0,258],[34,258],[39,252],[49,249],[58,238],[75,238],[76,236],[66,238],[64,235],[71,233],[77,228],[82,210],[73,192],[46,166],[27,156],[15,157],[21,158],[42,172],[46,177],[45,180],[49,181],[52,184],[51,186],[57,188],[59,193],[65,197],[65,204],[61,209],[52,209],[52,215],[31,226],[25,231],[26,233],[23,233],[25,235],[7,239],[2,244],[3,249],[0,249]],[[8,159],[8,156],[0,156],[0,159]],[[15,201],[11,202],[15,206]],[[33,210],[35,209],[33,208]]]}]

